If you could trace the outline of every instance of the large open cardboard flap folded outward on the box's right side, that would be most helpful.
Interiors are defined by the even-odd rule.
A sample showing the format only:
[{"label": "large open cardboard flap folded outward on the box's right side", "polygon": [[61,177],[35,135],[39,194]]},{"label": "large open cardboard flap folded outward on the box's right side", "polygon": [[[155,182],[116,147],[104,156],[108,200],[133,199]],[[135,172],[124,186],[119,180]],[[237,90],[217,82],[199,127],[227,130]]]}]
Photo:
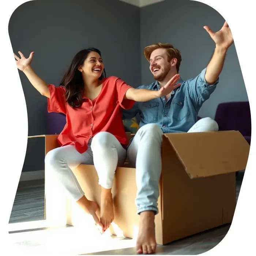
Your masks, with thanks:
[{"label": "large open cardboard flap folded outward on the box's right side", "polygon": [[166,133],[190,178],[245,170],[250,146],[238,131]]}]

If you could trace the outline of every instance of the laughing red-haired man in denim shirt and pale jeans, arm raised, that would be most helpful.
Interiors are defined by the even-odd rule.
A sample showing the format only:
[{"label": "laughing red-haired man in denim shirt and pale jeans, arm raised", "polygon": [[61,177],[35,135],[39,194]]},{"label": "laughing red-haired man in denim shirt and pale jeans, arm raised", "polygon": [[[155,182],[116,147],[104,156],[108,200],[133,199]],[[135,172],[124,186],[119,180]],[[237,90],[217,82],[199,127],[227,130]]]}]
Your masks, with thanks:
[{"label": "laughing red-haired man in denim shirt and pale jeans, arm raised", "polygon": [[[162,134],[170,132],[218,131],[218,124],[211,118],[197,121],[197,113],[210,97],[219,82],[227,49],[233,36],[227,22],[217,33],[204,26],[216,46],[210,63],[196,78],[182,83],[172,93],[148,102],[136,102],[131,110],[123,112],[124,119],[140,114],[140,128],[127,150],[127,157],[136,166],[138,187],[136,206],[140,215],[137,253],[154,253],[155,214],[158,214],[158,182],[161,175]],[[138,88],[159,90],[178,74],[181,54],[170,44],[153,44],[144,49],[156,82]]]}]

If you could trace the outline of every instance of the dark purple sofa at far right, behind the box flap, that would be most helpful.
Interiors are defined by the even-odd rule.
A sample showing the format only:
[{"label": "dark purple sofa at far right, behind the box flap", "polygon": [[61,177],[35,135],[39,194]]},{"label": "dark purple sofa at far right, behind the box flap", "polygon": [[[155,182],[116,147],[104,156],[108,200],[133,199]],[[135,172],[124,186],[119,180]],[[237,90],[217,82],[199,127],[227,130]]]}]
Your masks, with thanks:
[{"label": "dark purple sofa at far right, behind the box flap", "polygon": [[219,104],[214,119],[219,125],[219,131],[239,131],[251,145],[252,125],[249,101]]}]

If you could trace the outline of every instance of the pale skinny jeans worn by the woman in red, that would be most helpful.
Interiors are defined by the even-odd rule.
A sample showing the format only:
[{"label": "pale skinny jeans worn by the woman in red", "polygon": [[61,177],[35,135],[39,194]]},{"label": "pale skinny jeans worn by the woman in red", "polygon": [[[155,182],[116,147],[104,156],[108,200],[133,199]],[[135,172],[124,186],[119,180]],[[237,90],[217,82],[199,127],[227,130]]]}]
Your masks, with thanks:
[{"label": "pale skinny jeans worn by the woman in red", "polygon": [[89,140],[88,149],[80,154],[75,146],[55,148],[46,154],[45,167],[54,172],[68,194],[78,201],[84,192],[71,169],[80,164],[94,165],[99,185],[112,188],[117,166],[122,166],[127,152],[109,132],[99,132]]}]

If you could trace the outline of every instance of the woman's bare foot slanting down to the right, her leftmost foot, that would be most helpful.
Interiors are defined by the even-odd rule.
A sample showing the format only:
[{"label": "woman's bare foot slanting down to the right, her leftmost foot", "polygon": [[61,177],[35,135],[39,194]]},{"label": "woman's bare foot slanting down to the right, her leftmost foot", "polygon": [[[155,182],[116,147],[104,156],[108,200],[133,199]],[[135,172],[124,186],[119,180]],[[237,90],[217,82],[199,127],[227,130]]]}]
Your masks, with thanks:
[{"label": "woman's bare foot slanting down to the right, her leftmost foot", "polygon": [[96,211],[98,210],[99,206],[96,202],[94,201],[89,201],[85,196],[83,196],[82,198],[80,198],[76,203],[79,204],[80,207],[82,207],[82,209],[90,214],[93,218],[93,221],[95,222],[95,225],[97,226],[99,232],[101,234],[104,233],[104,229],[103,229],[103,225],[102,223],[99,221],[99,218],[96,214]]}]

